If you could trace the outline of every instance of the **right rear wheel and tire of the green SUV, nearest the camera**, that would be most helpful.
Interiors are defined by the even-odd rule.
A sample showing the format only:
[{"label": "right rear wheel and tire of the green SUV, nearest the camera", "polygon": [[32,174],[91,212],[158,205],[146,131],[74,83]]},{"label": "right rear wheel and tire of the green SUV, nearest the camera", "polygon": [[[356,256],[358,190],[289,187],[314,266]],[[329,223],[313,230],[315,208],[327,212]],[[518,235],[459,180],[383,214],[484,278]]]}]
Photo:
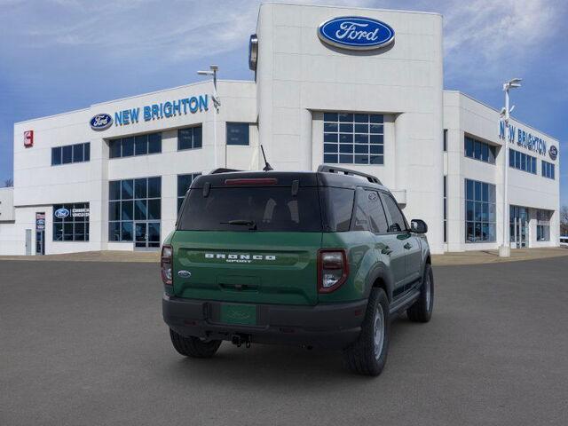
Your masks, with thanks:
[{"label": "right rear wheel and tire of the green SUV, nearest the camera", "polygon": [[389,299],[383,288],[373,288],[359,338],[343,350],[346,367],[359,375],[380,375],[389,351],[389,329]]}]

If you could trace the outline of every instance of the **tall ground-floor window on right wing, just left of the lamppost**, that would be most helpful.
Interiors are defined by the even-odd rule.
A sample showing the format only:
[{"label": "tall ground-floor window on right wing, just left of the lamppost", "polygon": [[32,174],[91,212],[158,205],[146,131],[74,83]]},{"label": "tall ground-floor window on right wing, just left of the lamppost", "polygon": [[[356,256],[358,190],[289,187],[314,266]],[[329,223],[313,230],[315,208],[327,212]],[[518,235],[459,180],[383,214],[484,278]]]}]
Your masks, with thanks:
[{"label": "tall ground-floor window on right wing, just left of the lamppost", "polygon": [[495,241],[495,185],[465,179],[466,242]]}]

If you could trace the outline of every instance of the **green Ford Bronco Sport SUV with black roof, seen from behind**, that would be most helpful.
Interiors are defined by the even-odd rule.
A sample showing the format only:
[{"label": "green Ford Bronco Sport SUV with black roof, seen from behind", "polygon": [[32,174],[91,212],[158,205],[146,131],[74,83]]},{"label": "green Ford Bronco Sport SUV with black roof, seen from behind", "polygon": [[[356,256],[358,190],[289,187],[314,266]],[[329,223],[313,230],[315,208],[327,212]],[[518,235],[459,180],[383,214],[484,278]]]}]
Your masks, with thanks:
[{"label": "green Ford Bronco Sport SUV with black roof, seen from behind", "polygon": [[171,342],[197,358],[224,340],[336,348],[353,371],[379,375],[390,319],[430,320],[426,232],[353,170],[197,177],[162,247]]}]

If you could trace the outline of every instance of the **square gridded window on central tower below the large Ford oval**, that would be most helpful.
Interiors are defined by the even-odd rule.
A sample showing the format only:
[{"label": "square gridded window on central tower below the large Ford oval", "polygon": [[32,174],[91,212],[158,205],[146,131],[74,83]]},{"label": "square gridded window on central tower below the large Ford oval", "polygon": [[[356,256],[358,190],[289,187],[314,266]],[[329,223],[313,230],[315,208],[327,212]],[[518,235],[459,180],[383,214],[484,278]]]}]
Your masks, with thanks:
[{"label": "square gridded window on central tower below the large Ford oval", "polygon": [[324,162],[384,164],[383,115],[324,113],[323,117]]}]

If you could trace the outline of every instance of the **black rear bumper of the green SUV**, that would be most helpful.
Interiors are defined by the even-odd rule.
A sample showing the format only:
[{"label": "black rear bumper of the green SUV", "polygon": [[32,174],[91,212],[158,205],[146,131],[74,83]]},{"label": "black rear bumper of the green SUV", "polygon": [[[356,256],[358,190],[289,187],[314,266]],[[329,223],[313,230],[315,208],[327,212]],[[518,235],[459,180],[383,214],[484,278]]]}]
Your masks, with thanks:
[{"label": "black rear bumper of the green SUV", "polygon": [[367,309],[367,300],[347,304],[294,306],[256,304],[256,326],[217,322],[221,302],[164,295],[163,319],[180,335],[252,343],[290,343],[344,348],[355,342]]}]

